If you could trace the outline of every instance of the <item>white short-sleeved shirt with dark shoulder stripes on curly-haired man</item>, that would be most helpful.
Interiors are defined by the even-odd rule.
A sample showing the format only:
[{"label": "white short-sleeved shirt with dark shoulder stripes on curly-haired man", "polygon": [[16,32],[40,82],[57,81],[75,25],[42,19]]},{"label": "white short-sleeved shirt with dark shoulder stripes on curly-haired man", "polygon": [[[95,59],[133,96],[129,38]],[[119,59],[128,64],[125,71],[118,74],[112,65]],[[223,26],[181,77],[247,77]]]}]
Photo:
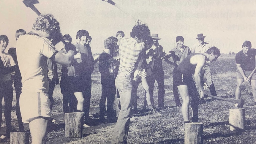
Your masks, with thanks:
[{"label": "white short-sleeved shirt with dark shoulder stripes on curly-haired man", "polygon": [[18,39],[16,51],[22,89],[48,93],[47,59],[57,52],[52,43],[31,33]]}]

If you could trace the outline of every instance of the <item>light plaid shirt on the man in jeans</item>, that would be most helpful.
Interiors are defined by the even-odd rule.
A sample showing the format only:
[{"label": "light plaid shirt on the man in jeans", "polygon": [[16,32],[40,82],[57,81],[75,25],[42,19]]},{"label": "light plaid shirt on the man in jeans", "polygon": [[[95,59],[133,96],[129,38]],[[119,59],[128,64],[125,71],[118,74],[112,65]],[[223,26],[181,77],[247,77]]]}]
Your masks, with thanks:
[{"label": "light plaid shirt on the man in jeans", "polygon": [[119,45],[119,71],[132,75],[139,63],[140,53],[145,47],[144,42],[138,43],[134,38],[121,39]]}]

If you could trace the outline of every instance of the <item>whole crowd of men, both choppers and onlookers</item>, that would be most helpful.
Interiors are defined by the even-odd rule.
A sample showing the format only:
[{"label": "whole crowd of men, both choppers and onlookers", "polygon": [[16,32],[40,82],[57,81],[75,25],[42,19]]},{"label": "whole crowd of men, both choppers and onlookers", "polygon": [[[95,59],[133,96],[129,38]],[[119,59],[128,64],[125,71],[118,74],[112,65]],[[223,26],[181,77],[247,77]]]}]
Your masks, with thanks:
[{"label": "whole crowd of men, both choppers and onlookers", "polygon": [[[184,38],[177,36],[177,45],[165,53],[159,44],[161,38],[158,34],[151,34],[148,26],[141,21],[132,28],[130,37],[124,36],[123,31],[118,31],[116,37],[105,39],[105,49],[99,56],[93,58],[90,47],[92,38],[89,32],[79,30],[74,45],[69,34],[62,37],[59,22],[50,14],[40,15],[29,33],[19,29],[16,32],[16,48],[10,48],[8,53],[5,53],[8,37],[1,35],[0,100],[4,97],[7,130],[0,138],[10,137],[10,132],[16,131],[11,126],[12,82],[16,91],[19,131],[24,132],[22,122],[29,123],[32,144],[46,142],[48,122],[54,122],[51,118],[51,110],[54,106],[53,89],[58,83],[63,94],[63,112],[84,112],[83,127],[89,127],[91,74],[97,61],[102,85],[99,121],[105,121],[105,107],[107,107],[107,122],[116,122],[113,144],[127,143],[132,106],[137,110],[136,93],[139,83],[145,89],[144,109],[155,108],[153,99],[155,81],[158,84],[158,107],[166,108],[162,59],[174,66],[173,95],[176,105],[181,107],[184,124],[190,122],[189,104],[192,108],[191,121],[198,122],[199,99],[206,96],[203,87],[204,76],[211,95],[217,96],[210,62],[217,60],[220,50],[205,42],[206,36],[197,34],[198,42],[193,47],[184,45]],[[241,83],[250,81],[256,105],[256,73],[251,79],[248,78],[255,68],[256,50],[251,47],[251,42],[245,41],[242,50],[236,55],[238,69],[236,99],[241,98],[239,88]],[[60,81],[56,63],[62,65]],[[117,120],[113,110],[115,96],[120,97],[121,103]],[[2,112],[1,104],[0,112]]]}]

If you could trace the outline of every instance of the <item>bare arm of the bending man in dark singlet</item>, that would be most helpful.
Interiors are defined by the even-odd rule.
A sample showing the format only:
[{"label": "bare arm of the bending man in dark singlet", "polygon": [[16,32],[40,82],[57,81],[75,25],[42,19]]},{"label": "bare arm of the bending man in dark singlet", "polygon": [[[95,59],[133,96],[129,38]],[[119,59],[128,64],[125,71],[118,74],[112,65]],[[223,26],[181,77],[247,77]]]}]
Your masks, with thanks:
[{"label": "bare arm of the bending man in dark singlet", "polygon": [[203,98],[203,96],[206,94],[206,92],[204,91],[204,88],[203,88],[202,80],[201,80],[201,71],[202,71],[204,65],[205,65],[205,58],[204,57],[198,58],[197,65],[195,68],[194,77],[195,77],[195,82],[198,86],[198,92],[199,92],[201,98]]}]

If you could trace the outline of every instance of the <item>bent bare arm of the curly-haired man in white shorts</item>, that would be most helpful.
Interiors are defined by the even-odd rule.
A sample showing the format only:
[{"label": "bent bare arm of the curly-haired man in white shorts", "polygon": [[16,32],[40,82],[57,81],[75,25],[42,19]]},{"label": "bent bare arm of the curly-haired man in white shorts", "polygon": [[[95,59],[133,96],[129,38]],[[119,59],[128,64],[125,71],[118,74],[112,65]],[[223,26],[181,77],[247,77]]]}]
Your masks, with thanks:
[{"label": "bent bare arm of the curly-haired man in white shorts", "polygon": [[69,50],[67,54],[63,54],[60,52],[57,52],[55,56],[52,57],[53,61],[56,61],[57,63],[64,65],[64,66],[71,66],[73,60],[74,60],[74,51]]}]

